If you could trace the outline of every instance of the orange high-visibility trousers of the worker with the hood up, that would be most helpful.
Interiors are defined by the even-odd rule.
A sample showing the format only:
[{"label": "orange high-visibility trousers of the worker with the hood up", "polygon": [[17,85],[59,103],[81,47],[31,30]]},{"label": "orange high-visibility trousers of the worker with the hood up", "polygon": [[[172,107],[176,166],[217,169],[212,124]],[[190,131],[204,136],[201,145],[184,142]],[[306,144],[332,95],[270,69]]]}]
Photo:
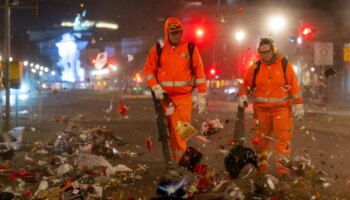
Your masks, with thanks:
[{"label": "orange high-visibility trousers of the worker with the hood up", "polygon": [[[170,152],[172,160],[180,160],[186,151],[186,141],[182,140],[176,132],[177,121],[191,123],[192,113],[192,96],[186,95],[172,98],[172,103],[175,106],[175,111],[172,115],[167,116],[169,134],[170,134]],[[163,109],[166,105],[162,103]]]}]

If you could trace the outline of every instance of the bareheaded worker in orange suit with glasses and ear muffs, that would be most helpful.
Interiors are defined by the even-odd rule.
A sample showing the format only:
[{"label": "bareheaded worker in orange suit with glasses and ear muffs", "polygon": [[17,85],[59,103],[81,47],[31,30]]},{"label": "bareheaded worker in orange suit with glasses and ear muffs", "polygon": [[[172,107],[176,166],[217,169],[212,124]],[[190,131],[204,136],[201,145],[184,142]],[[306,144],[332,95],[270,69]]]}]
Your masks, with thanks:
[{"label": "bareheaded worker in orange suit with glasses and ear muffs", "polygon": [[[303,98],[292,65],[286,62],[287,67],[284,72],[283,57],[277,52],[273,40],[269,37],[261,38],[258,52],[261,56],[260,67],[257,67],[257,63],[253,64],[243,77],[238,106],[243,107],[244,102],[247,102],[248,91],[252,92],[255,120],[253,145],[259,159],[259,171],[268,170],[267,155],[273,140],[277,174],[289,175],[288,168],[283,165],[286,159],[283,158],[288,159],[291,151],[292,103],[295,104],[294,116],[301,120],[304,115]],[[254,82],[256,68],[259,70]]]}]

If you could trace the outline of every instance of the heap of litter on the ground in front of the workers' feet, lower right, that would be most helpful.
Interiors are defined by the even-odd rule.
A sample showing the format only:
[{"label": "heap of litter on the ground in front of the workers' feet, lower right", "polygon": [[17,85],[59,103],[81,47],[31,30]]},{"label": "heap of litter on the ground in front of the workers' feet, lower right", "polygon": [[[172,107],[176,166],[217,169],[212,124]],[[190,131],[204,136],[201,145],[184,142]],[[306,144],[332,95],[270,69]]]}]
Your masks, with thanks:
[{"label": "heap of litter on the ground in front of the workers' feet, lower right", "polygon": [[189,147],[162,176],[153,199],[348,199],[350,181],[340,185],[316,169],[308,155],[284,160],[290,176],[258,173],[257,157],[235,145],[224,160],[227,173],[201,164],[202,154]]}]

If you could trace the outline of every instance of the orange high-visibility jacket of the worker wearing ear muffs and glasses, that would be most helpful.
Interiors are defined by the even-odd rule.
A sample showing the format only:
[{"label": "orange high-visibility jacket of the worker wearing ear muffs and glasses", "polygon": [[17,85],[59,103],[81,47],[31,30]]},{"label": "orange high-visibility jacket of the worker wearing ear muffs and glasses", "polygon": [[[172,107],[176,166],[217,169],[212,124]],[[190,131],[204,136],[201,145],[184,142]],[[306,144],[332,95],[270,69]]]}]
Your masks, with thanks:
[{"label": "orange high-visibility jacket of the worker wearing ear muffs and glasses", "polygon": [[[286,69],[286,79],[282,68],[282,56],[277,54],[277,58],[271,64],[261,62],[259,72],[257,73],[253,91],[255,104],[262,107],[272,107],[279,105],[291,105],[291,97],[295,104],[303,103],[303,98],[299,88],[298,80],[292,65],[288,62]],[[254,69],[253,64],[243,77],[243,83],[240,86],[239,95],[247,95],[253,83]]]}]

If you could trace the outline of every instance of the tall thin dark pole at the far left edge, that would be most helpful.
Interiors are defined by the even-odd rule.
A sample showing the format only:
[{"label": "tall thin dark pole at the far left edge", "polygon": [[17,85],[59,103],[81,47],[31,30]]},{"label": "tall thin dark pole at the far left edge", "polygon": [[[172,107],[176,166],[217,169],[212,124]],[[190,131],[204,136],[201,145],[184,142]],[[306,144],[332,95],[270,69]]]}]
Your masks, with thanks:
[{"label": "tall thin dark pole at the far left edge", "polygon": [[5,0],[5,45],[4,45],[4,54],[6,59],[6,74],[5,74],[5,87],[6,87],[6,118],[5,118],[5,131],[10,130],[10,4],[9,0]]}]

